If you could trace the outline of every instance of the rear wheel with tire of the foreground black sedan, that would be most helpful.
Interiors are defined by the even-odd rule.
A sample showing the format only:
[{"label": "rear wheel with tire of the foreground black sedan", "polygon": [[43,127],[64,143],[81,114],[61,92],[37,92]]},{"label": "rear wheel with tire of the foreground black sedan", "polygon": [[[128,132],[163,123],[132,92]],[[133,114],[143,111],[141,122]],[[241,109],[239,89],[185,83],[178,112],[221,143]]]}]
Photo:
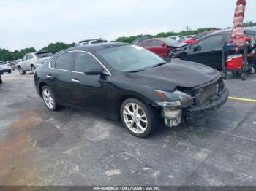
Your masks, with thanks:
[{"label": "rear wheel with tire of the foreground black sedan", "polygon": [[59,106],[56,103],[56,98],[53,95],[53,91],[50,90],[50,87],[45,85],[44,87],[42,87],[41,93],[42,100],[44,101],[45,106],[47,106],[48,109],[50,109],[51,111],[58,110]]}]

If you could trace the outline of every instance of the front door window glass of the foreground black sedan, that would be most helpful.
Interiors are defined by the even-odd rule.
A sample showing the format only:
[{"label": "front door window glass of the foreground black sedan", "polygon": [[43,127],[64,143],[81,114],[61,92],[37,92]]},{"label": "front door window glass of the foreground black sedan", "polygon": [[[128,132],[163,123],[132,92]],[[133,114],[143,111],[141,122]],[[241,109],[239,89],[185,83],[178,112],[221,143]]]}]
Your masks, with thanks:
[{"label": "front door window glass of the foreground black sedan", "polygon": [[75,71],[84,72],[86,69],[92,69],[99,62],[86,52],[75,52]]}]

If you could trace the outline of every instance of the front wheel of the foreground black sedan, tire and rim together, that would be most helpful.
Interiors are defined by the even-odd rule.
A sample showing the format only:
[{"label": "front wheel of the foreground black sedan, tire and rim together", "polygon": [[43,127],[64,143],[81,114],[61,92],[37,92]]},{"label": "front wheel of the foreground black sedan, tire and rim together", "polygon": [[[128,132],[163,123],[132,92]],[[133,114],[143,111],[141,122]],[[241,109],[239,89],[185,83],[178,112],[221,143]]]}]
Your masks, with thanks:
[{"label": "front wheel of the foreground black sedan, tire and rim together", "polygon": [[121,104],[121,121],[134,136],[146,137],[156,128],[156,118],[151,108],[135,98],[128,98]]}]

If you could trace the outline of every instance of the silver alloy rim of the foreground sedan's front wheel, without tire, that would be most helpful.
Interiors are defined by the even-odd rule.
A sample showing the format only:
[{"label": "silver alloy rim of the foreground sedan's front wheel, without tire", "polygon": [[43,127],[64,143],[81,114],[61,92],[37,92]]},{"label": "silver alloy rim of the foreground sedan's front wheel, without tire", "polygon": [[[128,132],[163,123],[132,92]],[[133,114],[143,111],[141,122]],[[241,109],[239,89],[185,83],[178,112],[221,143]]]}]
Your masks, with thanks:
[{"label": "silver alloy rim of the foreground sedan's front wheel, without tire", "polygon": [[148,119],[143,108],[135,103],[128,103],[123,109],[124,122],[133,133],[141,134],[148,128]]}]

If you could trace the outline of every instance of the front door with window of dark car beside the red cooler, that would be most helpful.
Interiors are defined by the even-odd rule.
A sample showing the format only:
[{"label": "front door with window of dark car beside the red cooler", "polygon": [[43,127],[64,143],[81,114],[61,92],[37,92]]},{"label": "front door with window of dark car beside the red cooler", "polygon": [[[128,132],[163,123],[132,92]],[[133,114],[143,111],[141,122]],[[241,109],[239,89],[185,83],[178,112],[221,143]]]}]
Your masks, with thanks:
[{"label": "front door with window of dark car beside the red cooler", "polygon": [[225,36],[217,34],[208,36],[189,46],[187,60],[203,63],[214,69],[222,69],[222,47],[225,44]]}]

